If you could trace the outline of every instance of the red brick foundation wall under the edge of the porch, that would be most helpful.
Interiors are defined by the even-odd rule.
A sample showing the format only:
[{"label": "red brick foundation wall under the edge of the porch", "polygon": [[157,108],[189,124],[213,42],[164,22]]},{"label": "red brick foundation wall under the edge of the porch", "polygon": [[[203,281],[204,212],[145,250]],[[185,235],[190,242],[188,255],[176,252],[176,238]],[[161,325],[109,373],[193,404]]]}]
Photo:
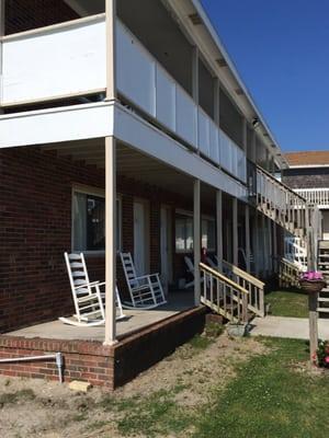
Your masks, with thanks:
[{"label": "red brick foundation wall under the edge of the porch", "polygon": [[[42,356],[60,351],[64,379],[89,381],[110,391],[126,383],[201,333],[205,324],[203,307],[184,311],[126,335],[114,346],[92,341],[60,341],[0,336],[0,358]],[[57,380],[54,361],[0,364],[0,374]]]}]

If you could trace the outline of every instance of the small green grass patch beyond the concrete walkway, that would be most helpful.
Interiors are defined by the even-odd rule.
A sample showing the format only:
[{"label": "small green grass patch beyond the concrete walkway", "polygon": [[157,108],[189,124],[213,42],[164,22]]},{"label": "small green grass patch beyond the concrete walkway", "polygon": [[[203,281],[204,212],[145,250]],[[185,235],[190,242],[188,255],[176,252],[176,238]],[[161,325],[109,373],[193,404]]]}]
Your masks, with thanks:
[{"label": "small green grass patch beyond the concrete walkway", "polygon": [[265,296],[265,303],[271,304],[274,316],[308,316],[307,295],[302,290],[276,290]]}]

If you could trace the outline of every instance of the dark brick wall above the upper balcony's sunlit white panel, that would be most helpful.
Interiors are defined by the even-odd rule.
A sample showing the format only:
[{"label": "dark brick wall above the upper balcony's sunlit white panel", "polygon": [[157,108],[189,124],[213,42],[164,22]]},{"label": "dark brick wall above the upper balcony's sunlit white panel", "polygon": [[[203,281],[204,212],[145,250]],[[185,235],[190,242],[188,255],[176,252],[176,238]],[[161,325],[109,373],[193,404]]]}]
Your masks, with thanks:
[{"label": "dark brick wall above the upper balcony's sunlit white panel", "polygon": [[5,0],[5,34],[78,19],[63,0]]}]

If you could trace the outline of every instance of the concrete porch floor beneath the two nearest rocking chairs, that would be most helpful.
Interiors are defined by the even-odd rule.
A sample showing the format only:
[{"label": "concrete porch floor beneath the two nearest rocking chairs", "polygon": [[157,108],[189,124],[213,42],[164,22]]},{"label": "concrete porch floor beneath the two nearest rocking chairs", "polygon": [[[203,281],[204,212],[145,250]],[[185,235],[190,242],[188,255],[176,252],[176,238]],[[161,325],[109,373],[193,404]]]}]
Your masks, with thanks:
[{"label": "concrete porch floor beneath the two nearest rocking chairs", "polygon": [[[123,337],[129,333],[141,330],[150,324],[173,316],[194,307],[193,292],[170,292],[168,303],[151,310],[125,310],[127,316],[116,322],[116,334]],[[25,338],[46,338],[63,341],[104,341],[104,325],[97,327],[76,327],[55,320],[43,324],[5,333],[7,336],[21,336]]]}]

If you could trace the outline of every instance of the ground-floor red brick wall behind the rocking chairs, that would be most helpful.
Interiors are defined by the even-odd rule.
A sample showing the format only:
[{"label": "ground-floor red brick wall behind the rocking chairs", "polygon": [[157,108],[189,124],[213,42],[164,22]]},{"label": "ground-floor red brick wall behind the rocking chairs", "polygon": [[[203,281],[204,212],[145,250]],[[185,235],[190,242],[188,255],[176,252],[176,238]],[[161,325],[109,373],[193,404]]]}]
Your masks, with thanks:
[{"label": "ground-floor red brick wall behind the rocking chairs", "polygon": [[[71,247],[75,183],[103,187],[104,171],[33,147],[0,150],[0,333],[72,312],[63,254]],[[134,197],[147,199],[150,270],[160,272],[160,205],[171,205],[174,211],[175,206],[188,208],[188,203],[125,177],[118,177],[117,191],[122,194],[123,251],[134,252]],[[104,256],[88,256],[87,265],[91,280],[104,279]],[[182,262],[179,270],[185,270]],[[121,263],[117,274],[124,295]]]}]

